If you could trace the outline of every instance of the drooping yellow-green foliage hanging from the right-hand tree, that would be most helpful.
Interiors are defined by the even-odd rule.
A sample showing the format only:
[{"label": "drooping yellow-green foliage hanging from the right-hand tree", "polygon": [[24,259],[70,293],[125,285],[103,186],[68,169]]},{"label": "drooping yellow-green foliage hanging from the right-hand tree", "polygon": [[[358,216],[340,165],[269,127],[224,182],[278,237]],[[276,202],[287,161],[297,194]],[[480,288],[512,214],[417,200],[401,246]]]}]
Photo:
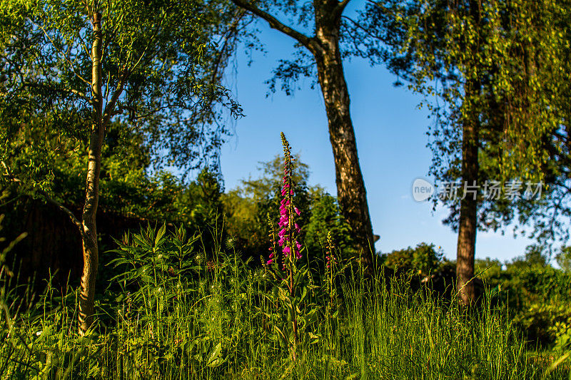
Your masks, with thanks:
[{"label": "drooping yellow-green foliage hanging from the right-hand tree", "polygon": [[[395,66],[395,71],[411,80],[414,91],[445,102],[429,106],[438,123],[479,115],[480,137],[487,140],[481,148],[500,147],[496,165],[509,173],[507,178],[541,178],[541,163],[547,160],[542,138],[558,128],[565,113],[554,94],[566,86],[559,78],[567,64],[566,26],[559,16],[567,14],[568,6],[503,0],[388,3],[406,31],[393,51],[406,56],[409,66]],[[465,92],[470,81],[477,81],[481,92]],[[504,140],[494,140],[497,127],[505,128]],[[435,132],[435,139],[445,141],[446,133]],[[435,148],[445,152],[452,145]]]}]

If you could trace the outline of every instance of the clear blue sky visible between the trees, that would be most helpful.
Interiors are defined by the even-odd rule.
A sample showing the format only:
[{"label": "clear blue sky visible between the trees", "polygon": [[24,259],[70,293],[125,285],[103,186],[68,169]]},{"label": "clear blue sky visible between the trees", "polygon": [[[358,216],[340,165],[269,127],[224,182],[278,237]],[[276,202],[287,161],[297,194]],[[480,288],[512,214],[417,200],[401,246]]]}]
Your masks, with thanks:
[{"label": "clear blue sky visible between the trees", "polygon": [[[237,121],[235,135],[222,149],[226,190],[235,188],[248,175],[256,176],[258,162],[281,153],[283,131],[293,150],[310,165],[310,183],[323,185],[336,195],[323,97],[318,87],[311,90],[310,81],[306,81],[293,96],[276,92],[266,98],[268,87],[263,82],[271,77],[278,59],[290,57],[293,43],[264,24],[260,27],[267,55],[255,53],[248,67],[246,54],[239,52],[235,75],[228,77],[246,117]],[[345,63],[345,77],[373,232],[380,235],[377,250],[390,252],[432,242],[443,247],[446,257],[455,258],[457,235],[441,222],[447,210],[433,213],[431,203],[412,198],[413,180],[427,178],[432,157],[426,148],[430,120],[428,111],[418,109],[420,96],[403,87],[394,88],[395,77],[385,68],[371,68],[357,58]],[[531,242],[515,239],[511,230],[504,236],[478,232],[476,241],[476,257],[502,262],[522,255]]]}]

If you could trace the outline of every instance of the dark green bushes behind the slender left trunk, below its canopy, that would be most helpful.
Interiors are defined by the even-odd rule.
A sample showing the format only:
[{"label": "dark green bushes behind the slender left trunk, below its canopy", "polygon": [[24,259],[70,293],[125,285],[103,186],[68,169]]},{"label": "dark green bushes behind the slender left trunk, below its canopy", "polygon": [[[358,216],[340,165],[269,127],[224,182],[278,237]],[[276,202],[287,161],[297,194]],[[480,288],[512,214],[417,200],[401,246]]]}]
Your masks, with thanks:
[{"label": "dark green bushes behind the slender left trunk, below its canopy", "polygon": [[[43,147],[36,150],[35,145]],[[6,145],[4,159],[12,174],[25,183],[14,188],[3,183],[4,197],[34,194],[33,187],[49,189],[64,205],[84,202],[87,150],[84,140],[65,139],[57,130],[22,125]],[[45,154],[44,154],[45,153]],[[36,160],[36,154],[41,160]],[[215,170],[203,169],[196,180],[183,182],[166,170],[151,172],[153,155],[141,131],[119,121],[106,131],[101,163],[99,206],[121,215],[150,220],[178,221],[206,226],[222,212],[221,180]],[[40,166],[34,165],[38,163]]]}]

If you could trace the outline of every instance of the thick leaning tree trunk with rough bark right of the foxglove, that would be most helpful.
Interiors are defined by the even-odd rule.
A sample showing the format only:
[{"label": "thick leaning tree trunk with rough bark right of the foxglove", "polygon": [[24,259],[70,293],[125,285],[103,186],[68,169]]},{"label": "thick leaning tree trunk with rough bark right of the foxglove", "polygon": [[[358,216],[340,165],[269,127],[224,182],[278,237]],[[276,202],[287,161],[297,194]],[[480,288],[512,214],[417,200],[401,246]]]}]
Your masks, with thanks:
[{"label": "thick leaning tree trunk with rough bark right of the foxglove", "polygon": [[335,160],[335,182],[343,217],[351,227],[363,265],[370,272],[375,252],[367,194],[360,170],[350,101],[339,50],[338,1],[315,1],[315,56],[318,81],[325,101],[329,138]]}]

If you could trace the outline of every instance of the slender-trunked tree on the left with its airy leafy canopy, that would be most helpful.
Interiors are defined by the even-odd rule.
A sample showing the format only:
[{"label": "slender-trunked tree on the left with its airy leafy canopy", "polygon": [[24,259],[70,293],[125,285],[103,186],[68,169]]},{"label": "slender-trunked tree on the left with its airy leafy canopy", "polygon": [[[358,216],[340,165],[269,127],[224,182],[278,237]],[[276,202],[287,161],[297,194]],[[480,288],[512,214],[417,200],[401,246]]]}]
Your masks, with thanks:
[{"label": "slender-trunked tree on the left with its airy leafy canopy", "polygon": [[[66,142],[74,138],[89,147],[81,153],[86,158],[81,215],[54,200],[49,184],[31,185],[59,205],[81,234],[79,333],[85,334],[94,321],[96,212],[106,128],[122,120],[160,153],[158,162],[196,167],[204,153],[198,147],[218,145],[225,133],[223,126],[211,128],[219,117],[213,104],[237,110],[218,74],[203,64],[213,54],[209,38],[223,35],[213,25],[229,25],[234,15],[225,19],[212,9],[208,13],[201,1],[171,0],[3,0],[0,9],[7,81],[0,100],[6,138],[1,152],[9,151],[24,126],[57,128],[64,142],[60,148],[69,148]],[[5,177],[26,176],[24,168],[11,168],[4,158]]]}]

